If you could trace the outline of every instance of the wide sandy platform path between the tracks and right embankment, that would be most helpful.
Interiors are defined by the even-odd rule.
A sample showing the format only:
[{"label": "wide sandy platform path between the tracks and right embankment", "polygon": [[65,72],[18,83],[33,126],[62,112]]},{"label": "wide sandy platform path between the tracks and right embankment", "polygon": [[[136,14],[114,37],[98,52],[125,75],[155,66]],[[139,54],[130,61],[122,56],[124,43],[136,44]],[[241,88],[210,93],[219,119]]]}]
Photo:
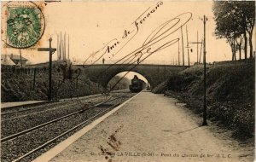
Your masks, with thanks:
[{"label": "wide sandy platform path between the tracks and right embankment", "polygon": [[178,106],[143,92],[50,161],[253,161],[222,130]]}]

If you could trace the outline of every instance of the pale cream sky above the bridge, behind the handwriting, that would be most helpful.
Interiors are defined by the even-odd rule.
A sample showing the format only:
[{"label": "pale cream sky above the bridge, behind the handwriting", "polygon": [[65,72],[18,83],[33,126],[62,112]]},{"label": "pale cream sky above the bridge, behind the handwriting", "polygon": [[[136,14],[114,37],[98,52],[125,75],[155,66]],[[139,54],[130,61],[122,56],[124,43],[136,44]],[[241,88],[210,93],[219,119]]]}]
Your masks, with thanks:
[{"label": "pale cream sky above the bridge, behind the handwriting", "polygon": [[[48,39],[50,37],[53,38],[52,46],[56,48],[57,35],[66,32],[70,38],[69,55],[71,61],[76,63],[84,63],[86,61],[86,63],[90,64],[98,60],[96,63],[102,63],[102,58],[104,58],[105,63],[114,63],[142,47],[148,36],[150,38],[150,34],[154,33],[154,30],[163,23],[172,20],[179,14],[183,14],[183,16],[179,17],[179,23],[182,24],[189,19],[190,14],[188,13],[191,13],[192,17],[186,24],[183,24],[184,46],[187,46],[186,27],[189,33],[189,43],[197,41],[197,32],[201,42],[203,37],[203,21],[201,19],[203,15],[206,15],[208,19],[206,26],[207,62],[231,60],[230,45],[226,43],[225,39],[216,39],[214,36],[215,22],[213,20],[211,1],[83,2],[73,0],[73,2],[47,3],[46,6],[44,4],[42,6],[44,8],[45,31],[39,42],[32,48],[20,49],[19,51],[19,49],[5,48],[2,41],[2,54],[13,53],[19,55],[21,52],[22,56],[32,63],[46,62],[49,59],[49,53],[38,52],[37,48],[49,47]],[[155,9],[156,6],[158,6],[157,9]],[[154,9],[154,12],[150,13],[152,9]],[[150,15],[143,20],[143,17],[148,13]],[[140,15],[143,16],[137,19]],[[139,20],[142,20],[142,23]],[[138,28],[135,21],[138,23]],[[167,26],[172,26],[172,22]],[[172,28],[172,30],[174,29],[176,27]],[[126,34],[127,32],[131,33],[125,37],[125,32]],[[253,35],[255,36],[255,34]],[[150,56],[148,53],[143,55],[141,61],[145,57],[147,58],[141,63],[176,64],[178,60],[178,42],[181,61],[182,41],[179,28],[170,36],[161,40],[158,45],[177,40],[177,38],[180,38],[180,41],[173,41],[173,44],[165,49],[156,51]],[[254,40],[255,37],[253,38],[253,44],[255,44]],[[107,51],[108,46],[112,45],[114,45],[113,49]],[[153,49],[157,49],[157,47],[153,45],[151,51]],[[189,51],[190,64],[193,64],[197,60],[196,44],[190,43],[189,49],[193,50],[193,52]],[[201,44],[199,44],[199,49],[201,49]],[[104,52],[105,55],[101,57]],[[94,57],[91,57],[92,55]],[[56,58],[57,52],[53,55],[53,60],[56,60]],[[185,64],[188,64],[186,48],[184,49],[184,61]]]}]

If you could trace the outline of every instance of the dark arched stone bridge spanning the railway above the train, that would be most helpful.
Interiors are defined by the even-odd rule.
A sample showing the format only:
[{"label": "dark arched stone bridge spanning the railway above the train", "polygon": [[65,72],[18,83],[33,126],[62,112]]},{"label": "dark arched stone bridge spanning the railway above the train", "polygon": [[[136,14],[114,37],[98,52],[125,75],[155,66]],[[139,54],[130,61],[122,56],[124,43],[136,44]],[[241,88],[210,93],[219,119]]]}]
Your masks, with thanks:
[{"label": "dark arched stone bridge spanning the railway above the train", "polygon": [[78,66],[90,80],[101,84],[107,88],[108,82],[119,72],[137,72],[148,80],[151,88],[164,82],[173,73],[183,71],[182,66],[173,65],[153,65],[153,64],[96,64],[88,66]]}]

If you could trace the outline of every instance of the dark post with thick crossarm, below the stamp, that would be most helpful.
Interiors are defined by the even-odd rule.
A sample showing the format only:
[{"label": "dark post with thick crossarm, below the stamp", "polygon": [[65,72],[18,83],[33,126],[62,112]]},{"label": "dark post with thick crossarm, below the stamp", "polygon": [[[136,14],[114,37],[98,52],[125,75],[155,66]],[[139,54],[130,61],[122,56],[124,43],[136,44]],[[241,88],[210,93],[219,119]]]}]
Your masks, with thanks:
[{"label": "dark post with thick crossarm, below the stamp", "polygon": [[48,100],[51,101],[51,66],[52,66],[52,55],[55,53],[56,49],[51,48],[52,38],[49,38],[49,48],[38,48],[38,51],[49,51],[49,94]]}]

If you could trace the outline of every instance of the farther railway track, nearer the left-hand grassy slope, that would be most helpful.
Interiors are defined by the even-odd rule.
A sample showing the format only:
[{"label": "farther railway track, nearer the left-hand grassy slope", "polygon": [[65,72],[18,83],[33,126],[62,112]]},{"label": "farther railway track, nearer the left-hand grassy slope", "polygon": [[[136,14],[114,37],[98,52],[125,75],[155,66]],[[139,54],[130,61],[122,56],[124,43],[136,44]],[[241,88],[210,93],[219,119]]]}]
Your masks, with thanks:
[{"label": "farther railway track, nearer the left-hand grassy slope", "polygon": [[1,138],[5,139],[6,136],[15,135],[22,130],[28,130],[32,127],[49,122],[50,120],[59,119],[67,114],[75,113],[83,108],[91,107],[98,102],[107,101],[108,99],[109,97],[106,98],[105,96],[98,97],[95,101],[91,101],[90,104],[85,103],[86,101],[75,101],[72,102],[72,104],[64,102],[58,107],[50,107],[44,111],[35,109],[33,110],[33,113],[27,112],[27,114],[22,113],[15,117],[3,119],[1,120]]}]

